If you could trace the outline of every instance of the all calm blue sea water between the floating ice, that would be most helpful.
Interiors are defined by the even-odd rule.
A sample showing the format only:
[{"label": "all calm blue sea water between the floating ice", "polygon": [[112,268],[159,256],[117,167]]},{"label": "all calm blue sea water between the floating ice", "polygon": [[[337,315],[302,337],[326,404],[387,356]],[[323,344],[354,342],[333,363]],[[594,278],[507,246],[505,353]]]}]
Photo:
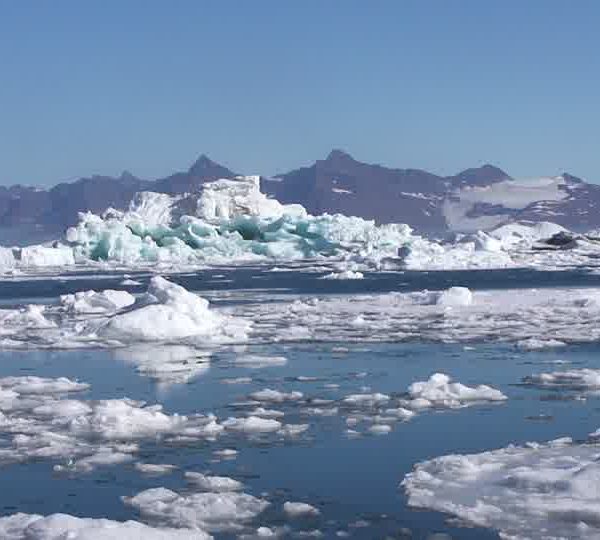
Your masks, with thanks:
[{"label": "all calm blue sea water between the floating ice", "polygon": [[[147,276],[132,276],[142,282]],[[579,272],[432,272],[384,273],[361,281],[320,281],[318,275],[303,272],[265,272],[261,268],[216,269],[173,276],[174,281],[217,302],[226,302],[218,291],[270,290],[278,294],[323,295],[441,289],[452,285],[478,288],[600,286],[600,277]],[[55,299],[59,294],[94,288],[127,288],[141,292],[145,286],[120,287],[122,274],[91,279],[0,282],[0,299],[5,305]],[[340,352],[340,347],[347,349]],[[77,378],[91,384],[81,398],[130,397],[161,403],[170,413],[214,412],[219,417],[236,414],[232,404],[251,391],[266,387],[300,390],[307,395],[340,399],[369,387],[373,392],[402,392],[416,380],[436,371],[448,373],[465,384],[490,384],[509,400],[460,410],[429,412],[408,423],[398,424],[385,436],[348,439],[343,436],[343,418],[333,416],[311,420],[311,432],[302,442],[256,444],[235,441],[240,451],[233,461],[214,462],[212,452],[220,443],[198,443],[192,447],[161,444],[144,445],[141,461],[172,463],[180,471],[161,477],[144,477],[130,465],[108,467],[94,473],[65,476],[52,472],[48,462],[27,463],[1,469],[0,513],[17,511],[48,514],[65,512],[88,517],[135,519],[137,516],[120,500],[150,487],[180,490],[185,486],[182,471],[210,471],[242,479],[247,492],[268,494],[274,504],[260,517],[261,525],[284,524],[281,503],[304,501],[319,506],[321,516],[300,525],[320,529],[327,538],[339,531],[352,538],[427,538],[447,533],[452,538],[497,538],[490,531],[458,527],[446,516],[410,509],[399,484],[413,465],[424,459],[449,453],[471,453],[510,443],[545,441],[562,436],[575,439],[600,427],[599,402],[566,399],[519,385],[522,377],[557,369],[556,361],[574,367],[598,367],[600,347],[588,345],[555,351],[523,353],[510,345],[459,345],[426,343],[347,344],[297,343],[250,348],[250,352],[281,354],[288,358],[283,367],[260,370],[235,367],[228,362],[230,351],[217,351],[210,368],[186,384],[165,385],[140,376],[124,361],[120,351],[28,351],[1,352],[0,376],[29,375]],[[365,373],[356,377],[357,373]],[[252,377],[249,385],[223,384],[223,378]],[[299,382],[298,376],[318,380]],[[324,389],[327,383],[339,389]],[[277,408],[280,408],[277,406]],[[285,409],[285,407],[284,407]],[[286,423],[300,423],[294,410]],[[229,440],[226,446],[231,446]],[[365,527],[351,524],[364,520]],[[404,535],[404,536],[403,536]],[[217,535],[217,537],[219,537]],[[220,536],[228,538],[228,535]]]}]

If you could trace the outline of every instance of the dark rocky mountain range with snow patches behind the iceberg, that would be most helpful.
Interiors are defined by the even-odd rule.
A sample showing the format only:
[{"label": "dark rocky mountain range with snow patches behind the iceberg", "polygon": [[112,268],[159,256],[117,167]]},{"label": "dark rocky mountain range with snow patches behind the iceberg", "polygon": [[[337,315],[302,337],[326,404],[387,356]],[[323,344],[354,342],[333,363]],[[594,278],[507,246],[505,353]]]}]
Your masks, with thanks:
[{"label": "dark rocky mountain range with snow patches behind the iceberg", "polygon": [[[205,155],[187,170],[157,180],[129,172],[91,176],[50,189],[0,187],[0,243],[56,238],[78,213],[125,209],[138,191],[171,195],[198,191],[234,171]],[[343,213],[379,223],[408,223],[421,232],[486,229],[509,220],[553,221],[574,230],[600,227],[600,186],[570,174],[517,181],[493,165],[438,176],[357,161],[333,150],[286,174],[261,177],[261,189],[312,214]]]}]

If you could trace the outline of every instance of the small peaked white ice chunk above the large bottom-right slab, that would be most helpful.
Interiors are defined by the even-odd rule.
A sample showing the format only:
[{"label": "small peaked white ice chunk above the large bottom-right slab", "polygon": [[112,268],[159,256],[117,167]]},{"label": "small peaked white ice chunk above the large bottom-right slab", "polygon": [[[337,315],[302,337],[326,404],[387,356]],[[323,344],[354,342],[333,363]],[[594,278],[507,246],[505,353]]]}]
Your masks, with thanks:
[{"label": "small peaked white ice chunk above the large bottom-right slab", "polygon": [[415,382],[408,387],[411,408],[463,407],[473,402],[504,401],[507,397],[491,386],[465,386],[451,382],[448,375],[433,374],[427,381]]}]

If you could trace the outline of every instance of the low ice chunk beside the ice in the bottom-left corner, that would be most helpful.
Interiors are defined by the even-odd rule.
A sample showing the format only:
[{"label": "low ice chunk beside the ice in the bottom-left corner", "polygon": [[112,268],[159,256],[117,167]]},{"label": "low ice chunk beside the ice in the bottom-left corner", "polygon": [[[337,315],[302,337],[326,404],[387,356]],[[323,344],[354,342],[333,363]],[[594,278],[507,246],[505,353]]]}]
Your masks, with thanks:
[{"label": "low ice chunk beside the ice in the bottom-left corner", "polygon": [[235,531],[269,506],[267,501],[246,493],[184,496],[165,488],[148,489],[134,497],[123,497],[123,501],[161,525],[209,532]]}]

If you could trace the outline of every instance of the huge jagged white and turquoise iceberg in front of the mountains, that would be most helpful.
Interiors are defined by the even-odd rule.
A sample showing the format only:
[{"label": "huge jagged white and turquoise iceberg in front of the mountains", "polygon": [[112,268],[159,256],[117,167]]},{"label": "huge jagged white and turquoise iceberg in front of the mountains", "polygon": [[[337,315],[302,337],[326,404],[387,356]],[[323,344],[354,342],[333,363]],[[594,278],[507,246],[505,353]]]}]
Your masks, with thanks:
[{"label": "huge jagged white and turquoise iceberg in front of the mountains", "polygon": [[331,259],[327,279],[360,279],[365,269],[562,268],[598,266],[593,233],[555,245],[570,233],[553,223],[505,223],[495,229],[433,240],[405,224],[341,214],[312,216],[260,191],[260,177],[205,183],[198,193],[141,192],[126,211],[81,213],[60,242],[2,248],[5,273],[77,266],[180,269],[231,262]]}]

